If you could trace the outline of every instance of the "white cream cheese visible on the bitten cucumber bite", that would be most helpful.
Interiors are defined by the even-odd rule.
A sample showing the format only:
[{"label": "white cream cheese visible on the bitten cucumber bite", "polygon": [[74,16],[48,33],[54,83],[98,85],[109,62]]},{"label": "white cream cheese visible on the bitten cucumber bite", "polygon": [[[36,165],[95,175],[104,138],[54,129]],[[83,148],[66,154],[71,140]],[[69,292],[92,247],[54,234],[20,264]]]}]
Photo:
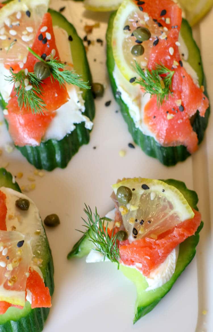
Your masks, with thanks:
[{"label": "white cream cheese visible on the bitten cucumber bite", "polygon": [[[108,227],[112,228],[115,219],[115,209],[108,212],[106,214],[106,217],[112,219],[112,222],[108,224]],[[179,245],[175,249],[173,249],[173,251],[168,255],[168,257],[165,259],[163,263],[161,263],[156,269],[150,272],[149,277],[145,277],[148,283],[146,291],[154,290],[158,287],[161,287],[172,278],[175,272],[178,255],[179,255]],[[109,261],[109,259],[105,258],[104,260],[104,256],[100,252],[94,249],[91,249],[90,253],[86,257],[86,263],[97,263],[103,261],[107,262]],[[142,273],[140,271],[141,267],[140,263],[136,263],[135,266],[130,266],[130,267],[136,268],[140,273]]]}]

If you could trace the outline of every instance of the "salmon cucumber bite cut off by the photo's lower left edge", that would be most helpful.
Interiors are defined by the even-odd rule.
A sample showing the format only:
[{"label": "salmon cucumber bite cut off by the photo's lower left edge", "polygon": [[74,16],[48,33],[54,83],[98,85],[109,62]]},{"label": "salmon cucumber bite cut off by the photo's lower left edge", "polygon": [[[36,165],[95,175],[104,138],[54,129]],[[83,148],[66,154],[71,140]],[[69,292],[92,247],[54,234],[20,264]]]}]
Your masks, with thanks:
[{"label": "salmon cucumber bite cut off by the photo's lower left edge", "polygon": [[54,291],[52,255],[37,207],[3,168],[0,271],[0,331],[42,331]]}]

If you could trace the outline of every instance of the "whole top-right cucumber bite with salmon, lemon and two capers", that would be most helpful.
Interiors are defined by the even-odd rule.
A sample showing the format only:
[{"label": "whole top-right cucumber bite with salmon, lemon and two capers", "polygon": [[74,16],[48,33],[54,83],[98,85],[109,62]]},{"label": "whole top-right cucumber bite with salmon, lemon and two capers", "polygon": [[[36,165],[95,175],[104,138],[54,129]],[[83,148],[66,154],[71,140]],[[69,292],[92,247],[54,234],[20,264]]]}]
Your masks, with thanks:
[{"label": "whole top-right cucumber bite with salmon, lemon and two capers", "polygon": [[109,20],[107,68],[133,140],[170,166],[202,141],[209,117],[200,51],[172,0],[124,0]]}]

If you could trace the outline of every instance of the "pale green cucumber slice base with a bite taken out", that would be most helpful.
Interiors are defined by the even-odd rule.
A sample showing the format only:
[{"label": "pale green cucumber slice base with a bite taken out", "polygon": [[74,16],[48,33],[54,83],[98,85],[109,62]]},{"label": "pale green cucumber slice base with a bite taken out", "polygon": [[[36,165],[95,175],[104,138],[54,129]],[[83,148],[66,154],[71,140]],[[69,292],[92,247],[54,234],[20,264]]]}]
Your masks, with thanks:
[{"label": "pale green cucumber slice base with a bite taken out", "polygon": [[[168,185],[176,187],[184,195],[188,204],[194,209],[198,210],[197,194],[194,191],[187,189],[184,182],[173,179],[161,181],[164,181]],[[137,290],[137,299],[135,303],[135,315],[133,323],[135,323],[142,316],[146,315],[158,304],[161,298],[165,296],[166,293],[172,288],[173,284],[181,275],[181,273],[185,270],[186,266],[191,262],[196,253],[196,245],[199,242],[199,232],[202,227],[203,222],[201,221],[195,235],[188,237],[184,242],[180,244],[175,273],[166,284],[155,290],[145,291],[148,286],[145,277],[134,268],[120,265],[120,270],[127,278],[129,278],[135,284]],[[81,239],[74,245],[67,258],[71,259],[72,257],[83,257],[84,255],[88,255],[90,250],[91,241],[88,240],[88,237],[86,235],[83,235]]]}]

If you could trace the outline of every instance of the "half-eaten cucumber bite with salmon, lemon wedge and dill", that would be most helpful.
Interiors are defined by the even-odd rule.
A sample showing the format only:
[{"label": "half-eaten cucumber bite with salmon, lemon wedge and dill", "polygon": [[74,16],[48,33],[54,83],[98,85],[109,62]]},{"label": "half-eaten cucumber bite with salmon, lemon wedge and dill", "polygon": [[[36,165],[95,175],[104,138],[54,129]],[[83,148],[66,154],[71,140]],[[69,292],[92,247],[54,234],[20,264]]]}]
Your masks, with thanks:
[{"label": "half-eaten cucumber bite with salmon, lemon wedge and dill", "polygon": [[136,286],[133,322],[151,311],[191,262],[202,228],[197,194],[176,180],[119,180],[105,218],[84,209],[86,231],[68,254],[111,261]]}]

